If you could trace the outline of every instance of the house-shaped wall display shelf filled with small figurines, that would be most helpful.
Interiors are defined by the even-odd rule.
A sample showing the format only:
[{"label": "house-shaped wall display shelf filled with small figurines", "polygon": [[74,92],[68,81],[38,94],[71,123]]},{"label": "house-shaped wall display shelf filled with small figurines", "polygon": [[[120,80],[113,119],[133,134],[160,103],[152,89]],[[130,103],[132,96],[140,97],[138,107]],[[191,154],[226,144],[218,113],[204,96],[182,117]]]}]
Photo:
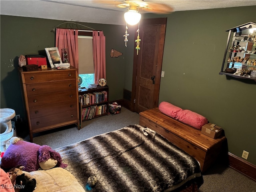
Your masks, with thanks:
[{"label": "house-shaped wall display shelf filled with small figurines", "polygon": [[248,22],[229,32],[220,75],[256,81],[256,23]]}]

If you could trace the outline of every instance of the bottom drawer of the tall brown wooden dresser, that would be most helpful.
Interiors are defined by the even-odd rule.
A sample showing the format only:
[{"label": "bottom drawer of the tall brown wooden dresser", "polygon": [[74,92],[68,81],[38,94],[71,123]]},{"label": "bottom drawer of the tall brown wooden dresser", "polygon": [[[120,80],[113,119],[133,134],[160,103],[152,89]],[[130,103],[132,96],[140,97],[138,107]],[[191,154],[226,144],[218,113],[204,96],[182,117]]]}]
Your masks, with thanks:
[{"label": "bottom drawer of the tall brown wooden dresser", "polygon": [[38,117],[31,119],[32,131],[50,127],[61,123],[67,123],[70,121],[76,121],[78,119],[77,110],[59,112],[53,115]]}]

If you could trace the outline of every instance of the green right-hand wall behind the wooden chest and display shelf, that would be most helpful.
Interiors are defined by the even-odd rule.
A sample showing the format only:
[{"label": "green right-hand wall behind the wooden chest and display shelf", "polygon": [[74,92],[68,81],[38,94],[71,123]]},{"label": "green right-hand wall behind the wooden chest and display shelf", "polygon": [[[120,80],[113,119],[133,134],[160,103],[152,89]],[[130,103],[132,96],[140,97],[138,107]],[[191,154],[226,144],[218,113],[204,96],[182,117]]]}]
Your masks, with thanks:
[{"label": "green right-hand wall behind the wooden chest and display shelf", "polygon": [[[221,126],[228,151],[256,165],[256,83],[219,75],[226,30],[256,22],[256,6],[174,12],[167,16],[159,103],[170,102]],[[148,18],[156,17],[149,14]],[[163,17],[163,16],[159,16]]]}]

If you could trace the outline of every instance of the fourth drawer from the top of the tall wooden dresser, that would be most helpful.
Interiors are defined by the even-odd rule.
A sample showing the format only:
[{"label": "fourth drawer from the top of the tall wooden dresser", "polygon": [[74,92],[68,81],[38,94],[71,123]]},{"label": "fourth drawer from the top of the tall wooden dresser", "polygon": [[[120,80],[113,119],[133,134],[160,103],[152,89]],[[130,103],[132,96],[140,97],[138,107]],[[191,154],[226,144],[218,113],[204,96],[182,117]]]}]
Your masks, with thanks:
[{"label": "fourth drawer from the top of the tall wooden dresser", "polygon": [[58,114],[63,111],[72,111],[77,109],[76,101],[52,103],[50,105],[34,106],[29,108],[30,118],[38,118],[47,115]]}]

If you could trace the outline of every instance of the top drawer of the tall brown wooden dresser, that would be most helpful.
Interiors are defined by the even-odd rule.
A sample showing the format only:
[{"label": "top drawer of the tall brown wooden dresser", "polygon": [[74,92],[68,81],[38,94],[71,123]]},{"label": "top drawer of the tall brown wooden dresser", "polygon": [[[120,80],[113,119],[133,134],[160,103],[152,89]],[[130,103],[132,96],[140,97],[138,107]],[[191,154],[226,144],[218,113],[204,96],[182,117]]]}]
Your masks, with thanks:
[{"label": "top drawer of the tall brown wooden dresser", "polygon": [[76,79],[75,70],[32,72],[24,74],[24,84]]}]

